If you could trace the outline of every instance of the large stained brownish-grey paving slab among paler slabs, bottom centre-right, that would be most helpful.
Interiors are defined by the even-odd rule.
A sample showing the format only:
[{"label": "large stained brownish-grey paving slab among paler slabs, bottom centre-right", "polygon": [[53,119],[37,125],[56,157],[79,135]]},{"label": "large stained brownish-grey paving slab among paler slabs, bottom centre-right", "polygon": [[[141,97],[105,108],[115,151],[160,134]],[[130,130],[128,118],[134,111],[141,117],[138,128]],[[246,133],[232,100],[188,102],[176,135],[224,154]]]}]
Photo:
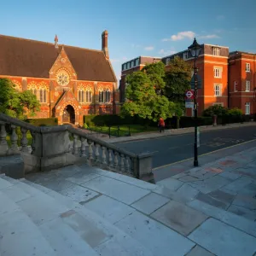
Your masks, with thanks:
[{"label": "large stained brownish-grey paving slab among paler slabs, bottom centre-right", "polygon": [[191,231],[208,218],[204,213],[177,201],[170,201],[164,207],[153,212],[151,216],[183,236],[188,236]]}]

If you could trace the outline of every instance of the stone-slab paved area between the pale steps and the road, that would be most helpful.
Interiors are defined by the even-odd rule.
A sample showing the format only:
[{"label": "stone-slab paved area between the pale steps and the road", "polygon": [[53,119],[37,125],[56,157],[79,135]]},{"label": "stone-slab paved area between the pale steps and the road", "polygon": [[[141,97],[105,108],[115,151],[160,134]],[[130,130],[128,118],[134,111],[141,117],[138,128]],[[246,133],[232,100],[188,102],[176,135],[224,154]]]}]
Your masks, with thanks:
[{"label": "stone-slab paved area between the pale steps and the road", "polygon": [[[152,255],[256,252],[256,148],[157,184],[88,166],[67,166],[26,178],[78,201]],[[108,249],[105,242],[96,250],[111,255],[113,247],[110,240]]]}]

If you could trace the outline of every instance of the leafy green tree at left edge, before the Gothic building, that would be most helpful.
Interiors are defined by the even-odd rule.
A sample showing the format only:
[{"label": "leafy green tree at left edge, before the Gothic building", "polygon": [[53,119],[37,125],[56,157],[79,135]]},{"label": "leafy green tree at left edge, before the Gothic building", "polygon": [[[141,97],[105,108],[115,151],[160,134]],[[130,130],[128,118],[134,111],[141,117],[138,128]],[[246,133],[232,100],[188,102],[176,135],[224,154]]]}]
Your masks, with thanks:
[{"label": "leafy green tree at left edge, before the Gothic building", "polygon": [[9,79],[0,79],[0,113],[11,117],[26,119],[27,113],[33,116],[39,111],[40,103],[32,91],[19,92]]}]

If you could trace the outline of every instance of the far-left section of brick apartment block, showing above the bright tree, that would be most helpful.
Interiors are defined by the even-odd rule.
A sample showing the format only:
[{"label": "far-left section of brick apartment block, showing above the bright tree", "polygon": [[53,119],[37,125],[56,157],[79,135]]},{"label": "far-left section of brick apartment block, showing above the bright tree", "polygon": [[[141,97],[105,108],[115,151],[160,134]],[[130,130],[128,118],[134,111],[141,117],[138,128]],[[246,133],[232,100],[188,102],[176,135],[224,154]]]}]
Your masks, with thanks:
[{"label": "far-left section of brick apartment block, showing above the bright tree", "polygon": [[146,57],[139,56],[131,61],[126,61],[122,64],[121,79],[119,81],[119,92],[120,92],[120,102],[125,102],[125,77],[127,74],[133,73],[135,71],[140,71],[145,67],[146,64],[156,63],[161,61],[161,58],[157,57]]}]

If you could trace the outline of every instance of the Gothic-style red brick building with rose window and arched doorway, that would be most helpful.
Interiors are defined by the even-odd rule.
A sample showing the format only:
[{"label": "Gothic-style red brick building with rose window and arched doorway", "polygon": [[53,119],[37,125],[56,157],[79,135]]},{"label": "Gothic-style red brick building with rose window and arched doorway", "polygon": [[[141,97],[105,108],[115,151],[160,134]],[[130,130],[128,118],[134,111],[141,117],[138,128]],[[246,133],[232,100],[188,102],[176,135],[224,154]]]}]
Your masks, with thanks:
[{"label": "Gothic-style red brick building with rose window and arched doorway", "polygon": [[108,32],[102,50],[84,49],[0,35],[0,77],[17,90],[32,90],[41,103],[37,118],[83,125],[91,113],[119,112],[117,80],[108,55]]}]

